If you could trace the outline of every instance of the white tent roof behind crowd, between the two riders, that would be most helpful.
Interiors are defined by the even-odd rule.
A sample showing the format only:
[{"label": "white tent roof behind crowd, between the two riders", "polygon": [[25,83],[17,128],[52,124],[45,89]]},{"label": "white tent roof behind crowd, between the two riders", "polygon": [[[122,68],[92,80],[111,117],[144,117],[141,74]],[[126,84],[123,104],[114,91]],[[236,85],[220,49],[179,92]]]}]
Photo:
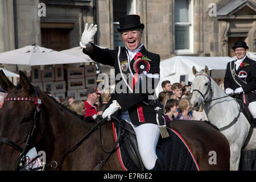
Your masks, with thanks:
[{"label": "white tent roof behind crowd, between the two riders", "polygon": [[205,68],[205,65],[210,71],[225,70],[226,64],[232,61],[231,57],[197,57],[197,56],[175,56],[170,59],[160,61],[160,79],[156,88],[156,94],[162,92],[162,81],[169,80],[171,84],[180,82],[180,76],[185,75],[187,81],[192,81],[195,76],[192,72],[192,67],[195,66],[197,71]]}]

